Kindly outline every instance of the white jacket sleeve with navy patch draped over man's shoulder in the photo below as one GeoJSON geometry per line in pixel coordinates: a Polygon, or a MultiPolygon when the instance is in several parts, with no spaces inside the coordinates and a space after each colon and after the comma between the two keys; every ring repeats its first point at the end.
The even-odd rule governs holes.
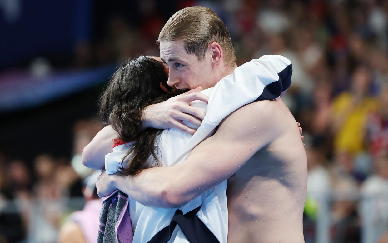
{"type": "Polygon", "coordinates": [[[278,98],[288,89],[291,75],[291,62],[279,55],[265,55],[242,64],[211,90],[204,121],[218,125],[245,104],[278,98]]]}

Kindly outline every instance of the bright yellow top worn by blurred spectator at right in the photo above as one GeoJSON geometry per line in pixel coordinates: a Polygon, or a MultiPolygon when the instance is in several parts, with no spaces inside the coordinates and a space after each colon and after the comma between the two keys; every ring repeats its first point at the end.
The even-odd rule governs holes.
{"type": "Polygon", "coordinates": [[[352,154],[364,149],[367,116],[378,109],[378,101],[375,98],[365,97],[358,104],[354,104],[354,99],[353,94],[344,92],[338,95],[332,104],[334,120],[345,115],[343,124],[334,135],[334,149],[352,154]]]}

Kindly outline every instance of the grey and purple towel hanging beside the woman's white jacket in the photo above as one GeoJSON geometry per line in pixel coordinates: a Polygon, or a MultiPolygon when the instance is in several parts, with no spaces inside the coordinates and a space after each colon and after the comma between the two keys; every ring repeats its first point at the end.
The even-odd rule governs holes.
{"type": "Polygon", "coordinates": [[[128,195],[116,190],[102,198],[97,242],[132,243],[132,221],[129,215],[128,195]]]}

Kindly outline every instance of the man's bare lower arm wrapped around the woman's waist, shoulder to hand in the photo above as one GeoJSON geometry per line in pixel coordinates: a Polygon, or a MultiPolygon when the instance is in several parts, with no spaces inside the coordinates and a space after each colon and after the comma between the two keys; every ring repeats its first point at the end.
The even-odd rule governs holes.
{"type": "MultiPolygon", "coordinates": [[[[259,149],[267,146],[279,131],[270,102],[248,104],[229,115],[215,135],[194,148],[187,159],[174,167],[155,167],[139,175],[102,175],[97,182],[100,196],[118,188],[151,207],[185,205],[204,191],[233,175],[259,149]]],[[[297,129],[295,127],[295,129],[297,129]]]]}

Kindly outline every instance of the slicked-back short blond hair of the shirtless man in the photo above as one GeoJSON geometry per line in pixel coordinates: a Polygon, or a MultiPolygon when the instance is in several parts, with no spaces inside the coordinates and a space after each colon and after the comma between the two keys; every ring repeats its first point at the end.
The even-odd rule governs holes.
{"type": "Polygon", "coordinates": [[[186,52],[195,54],[200,61],[209,45],[217,42],[225,64],[230,67],[236,64],[236,51],[228,29],[220,16],[206,7],[187,7],[176,12],[160,31],[158,42],[163,40],[182,40],[186,52]]]}

